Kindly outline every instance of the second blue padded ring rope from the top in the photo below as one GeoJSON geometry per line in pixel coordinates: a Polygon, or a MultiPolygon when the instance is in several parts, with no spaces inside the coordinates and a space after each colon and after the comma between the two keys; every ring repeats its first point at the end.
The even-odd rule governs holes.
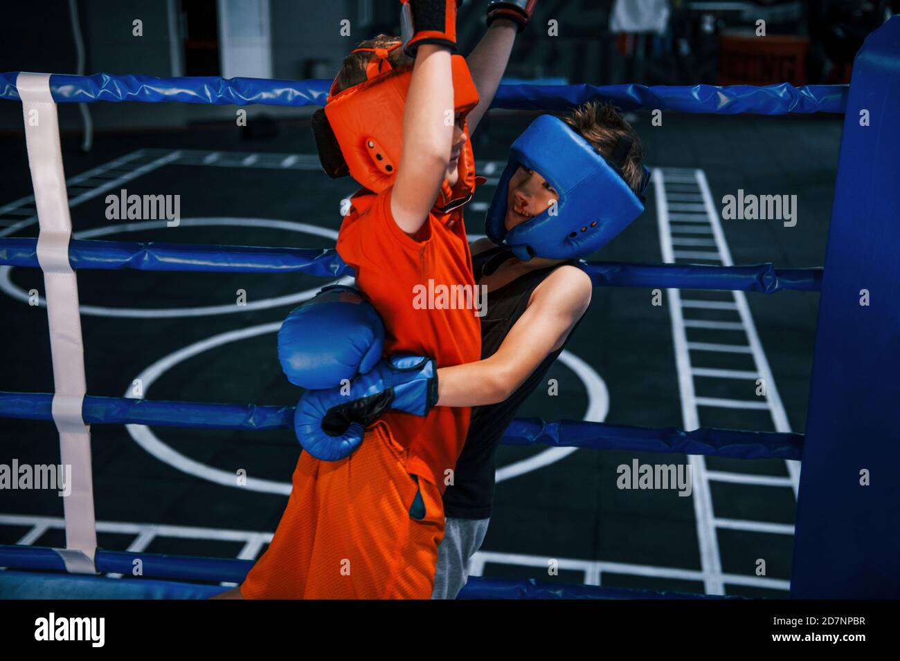
{"type": "MultiPolygon", "coordinates": [[[[0,265],[39,268],[36,238],[0,238],[0,265]]],[[[193,246],[73,240],[68,261],[74,269],[142,271],[303,272],[321,277],[352,275],[335,250],[256,246],[193,246]]],[[[617,264],[582,262],[594,286],[675,287],[742,290],[771,294],[782,290],[818,291],[822,269],[777,269],[772,264],[617,264]]]]}

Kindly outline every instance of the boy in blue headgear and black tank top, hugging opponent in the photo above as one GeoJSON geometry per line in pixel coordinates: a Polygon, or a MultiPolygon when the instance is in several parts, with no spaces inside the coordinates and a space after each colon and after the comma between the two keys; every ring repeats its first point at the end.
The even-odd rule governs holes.
{"type": "Polygon", "coordinates": [[[488,292],[482,361],[437,371],[439,406],[473,406],[444,493],[437,599],[454,599],[465,585],[490,523],[500,439],[590,304],[578,258],[640,215],[649,181],[640,138],[609,105],[541,115],[510,152],[486,219],[489,238],[472,246],[475,281],[488,292]]]}

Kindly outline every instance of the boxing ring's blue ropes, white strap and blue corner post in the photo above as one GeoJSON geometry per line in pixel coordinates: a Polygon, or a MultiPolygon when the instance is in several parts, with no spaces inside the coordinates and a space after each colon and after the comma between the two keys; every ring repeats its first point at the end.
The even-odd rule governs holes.
{"type": "MultiPolygon", "coordinates": [[[[0,392],[0,417],[52,421],[61,463],[70,464],[64,500],[66,548],[0,546],[0,596],[200,598],[239,583],[252,561],[98,549],[90,429],[147,424],[246,432],[293,428],[293,407],[94,397],[86,393],[78,307],[81,269],[352,275],[334,250],[203,246],[72,238],[58,135],[57,103],[141,102],[322,105],[330,81],[217,77],[0,74],[0,98],[23,104],[40,234],[0,238],[0,265],[44,274],[53,393],[0,392]],[[140,579],[129,575],[135,563],[140,579]]],[[[851,85],[753,87],[501,85],[493,107],[563,111],[591,99],[625,110],[698,113],[842,112],[841,154],[824,268],[773,264],[589,263],[596,287],[820,292],[806,434],[518,419],[503,442],[626,449],[738,459],[802,460],[791,596],[900,597],[900,18],[869,35],[851,85]],[[893,113],[893,114],[892,114],[893,113]],[[863,121],[865,117],[865,121],[863,121]],[[866,291],[871,303],[860,305],[866,291]],[[868,486],[860,475],[871,476],[868,486]]],[[[160,221],[164,223],[165,220],[160,221]]],[[[310,294],[311,296],[312,294],[310,294]]],[[[541,585],[473,576],[460,598],[671,598],[673,593],[592,585],[541,585]]]]}

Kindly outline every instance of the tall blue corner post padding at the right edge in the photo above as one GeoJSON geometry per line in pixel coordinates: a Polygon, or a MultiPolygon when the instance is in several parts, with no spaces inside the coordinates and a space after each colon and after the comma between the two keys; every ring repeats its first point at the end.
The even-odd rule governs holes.
{"type": "Polygon", "coordinates": [[[866,38],[851,77],[797,498],[791,596],[801,599],[900,599],[898,112],[895,16],[866,38]]]}

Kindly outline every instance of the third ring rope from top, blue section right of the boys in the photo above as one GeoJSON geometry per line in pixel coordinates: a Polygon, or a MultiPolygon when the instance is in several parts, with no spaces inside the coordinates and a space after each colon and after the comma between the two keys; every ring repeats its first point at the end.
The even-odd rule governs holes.
{"type": "Polygon", "coordinates": [[[685,432],[676,427],[652,429],[576,420],[545,423],[540,418],[517,418],[507,427],[503,443],[594,450],[678,452],[736,459],[800,459],[803,434],[714,428],[685,432]]]}

